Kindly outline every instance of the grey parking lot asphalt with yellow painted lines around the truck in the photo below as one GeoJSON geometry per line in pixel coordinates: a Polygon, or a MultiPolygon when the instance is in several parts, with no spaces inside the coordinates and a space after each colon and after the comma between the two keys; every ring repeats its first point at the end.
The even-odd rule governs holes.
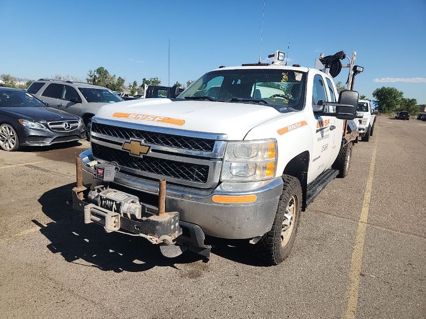
{"type": "Polygon", "coordinates": [[[66,204],[88,142],[0,152],[0,317],[424,318],[426,122],[378,117],[349,175],[302,214],[290,256],[208,262],[85,225],[66,204]]]}

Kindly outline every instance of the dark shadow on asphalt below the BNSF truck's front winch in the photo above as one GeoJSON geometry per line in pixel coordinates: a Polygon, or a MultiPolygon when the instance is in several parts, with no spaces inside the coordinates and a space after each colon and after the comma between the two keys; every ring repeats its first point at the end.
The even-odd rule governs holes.
{"type": "Polygon", "coordinates": [[[40,232],[51,242],[47,248],[59,253],[70,263],[95,267],[103,271],[141,272],[155,266],[173,267],[202,260],[192,252],[168,259],[159,247],[143,238],[120,233],[105,233],[94,223],[84,224],[83,213],[74,211],[67,201],[71,199],[74,183],[48,190],[39,198],[43,213],[53,220],[41,227],[40,232]]]}

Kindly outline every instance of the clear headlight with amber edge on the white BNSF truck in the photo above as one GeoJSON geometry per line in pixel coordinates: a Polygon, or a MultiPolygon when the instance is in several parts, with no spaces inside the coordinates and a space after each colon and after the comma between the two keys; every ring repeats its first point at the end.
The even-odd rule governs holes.
{"type": "Polygon", "coordinates": [[[253,181],[273,178],[277,155],[275,139],[228,142],[220,179],[253,181]]]}

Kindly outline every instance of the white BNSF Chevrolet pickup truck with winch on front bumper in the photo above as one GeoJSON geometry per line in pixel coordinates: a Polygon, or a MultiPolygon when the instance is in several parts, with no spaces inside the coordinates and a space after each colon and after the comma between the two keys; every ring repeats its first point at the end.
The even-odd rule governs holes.
{"type": "Polygon", "coordinates": [[[103,106],[76,159],[73,207],[85,223],[146,238],[167,257],[208,257],[209,235],[282,262],[300,212],[347,174],[358,102],[282,55],[207,72],[177,98],[103,106]]]}

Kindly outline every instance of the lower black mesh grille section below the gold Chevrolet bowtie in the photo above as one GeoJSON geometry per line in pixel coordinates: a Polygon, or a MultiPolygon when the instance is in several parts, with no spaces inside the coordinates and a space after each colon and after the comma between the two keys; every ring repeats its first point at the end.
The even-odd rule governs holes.
{"type": "MultiPolygon", "coordinates": [[[[99,123],[96,125],[99,125],[99,123]]],[[[121,127],[116,128],[121,129],[121,127]]],[[[132,156],[126,151],[96,143],[92,143],[92,154],[95,158],[100,160],[117,162],[121,167],[182,180],[206,183],[209,176],[209,166],[207,165],[178,162],[150,156],[141,158],[132,156]]]]}

